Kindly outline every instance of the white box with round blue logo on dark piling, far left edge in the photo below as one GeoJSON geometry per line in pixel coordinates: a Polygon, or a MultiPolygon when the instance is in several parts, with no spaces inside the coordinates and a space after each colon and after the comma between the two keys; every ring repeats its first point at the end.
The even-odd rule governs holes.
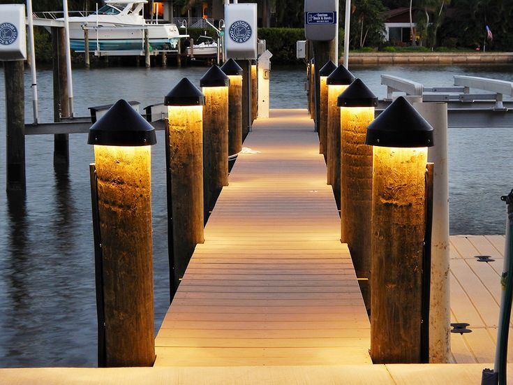
{"type": "Polygon", "coordinates": [[[25,6],[0,5],[0,61],[6,82],[7,191],[25,189],[25,6]]]}

